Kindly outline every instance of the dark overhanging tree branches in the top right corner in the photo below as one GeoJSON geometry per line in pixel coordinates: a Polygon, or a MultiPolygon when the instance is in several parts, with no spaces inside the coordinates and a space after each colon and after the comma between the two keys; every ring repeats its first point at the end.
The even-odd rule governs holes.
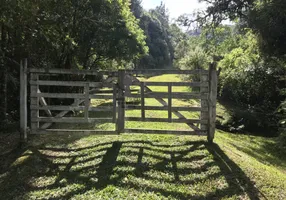
{"type": "MultiPolygon", "coordinates": [[[[266,56],[285,58],[286,5],[284,0],[201,0],[208,3],[199,12],[201,24],[218,26],[223,20],[241,20],[259,36],[259,46],[266,56]]],[[[189,20],[189,23],[193,20],[189,20]]],[[[188,23],[188,25],[189,25],[188,23]]]]}

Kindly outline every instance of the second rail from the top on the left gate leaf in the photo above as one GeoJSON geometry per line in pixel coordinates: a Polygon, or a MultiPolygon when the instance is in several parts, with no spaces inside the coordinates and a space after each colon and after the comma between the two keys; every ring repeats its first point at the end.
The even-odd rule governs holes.
{"type": "MultiPolygon", "coordinates": [[[[42,86],[69,86],[69,87],[84,87],[87,82],[83,81],[30,81],[31,85],[42,86]]],[[[112,87],[112,83],[88,82],[90,87],[112,87]]]]}

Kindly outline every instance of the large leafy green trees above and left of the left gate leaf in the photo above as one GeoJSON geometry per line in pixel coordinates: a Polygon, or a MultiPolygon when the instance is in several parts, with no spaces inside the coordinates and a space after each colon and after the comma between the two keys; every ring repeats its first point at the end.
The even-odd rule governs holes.
{"type": "Polygon", "coordinates": [[[129,6],[128,0],[2,1],[0,120],[17,109],[18,62],[25,57],[29,67],[100,69],[145,55],[145,35],[129,6]]]}

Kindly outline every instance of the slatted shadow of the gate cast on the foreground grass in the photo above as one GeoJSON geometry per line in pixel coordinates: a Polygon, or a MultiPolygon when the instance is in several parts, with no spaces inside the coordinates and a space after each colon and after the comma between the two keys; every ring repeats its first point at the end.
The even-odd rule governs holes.
{"type": "MultiPolygon", "coordinates": [[[[218,145],[203,141],[169,145],[116,140],[73,149],[41,146],[29,148],[23,156],[28,157],[0,176],[0,198],[88,198],[109,186],[134,196],[151,193],[175,199],[260,196],[218,145]]],[[[127,198],[112,195],[114,191],[107,196],[127,198]]]]}

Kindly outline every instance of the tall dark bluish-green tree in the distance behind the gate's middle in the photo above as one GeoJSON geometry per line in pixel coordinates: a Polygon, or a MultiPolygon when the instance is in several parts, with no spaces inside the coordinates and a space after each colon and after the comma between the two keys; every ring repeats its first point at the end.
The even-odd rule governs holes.
{"type": "Polygon", "coordinates": [[[132,5],[133,13],[140,20],[140,27],[144,30],[149,47],[149,54],[136,62],[136,68],[171,67],[174,60],[174,45],[181,31],[175,24],[170,25],[165,5],[161,4],[149,11],[144,11],[138,6],[138,0],[133,0],[132,5]]]}

